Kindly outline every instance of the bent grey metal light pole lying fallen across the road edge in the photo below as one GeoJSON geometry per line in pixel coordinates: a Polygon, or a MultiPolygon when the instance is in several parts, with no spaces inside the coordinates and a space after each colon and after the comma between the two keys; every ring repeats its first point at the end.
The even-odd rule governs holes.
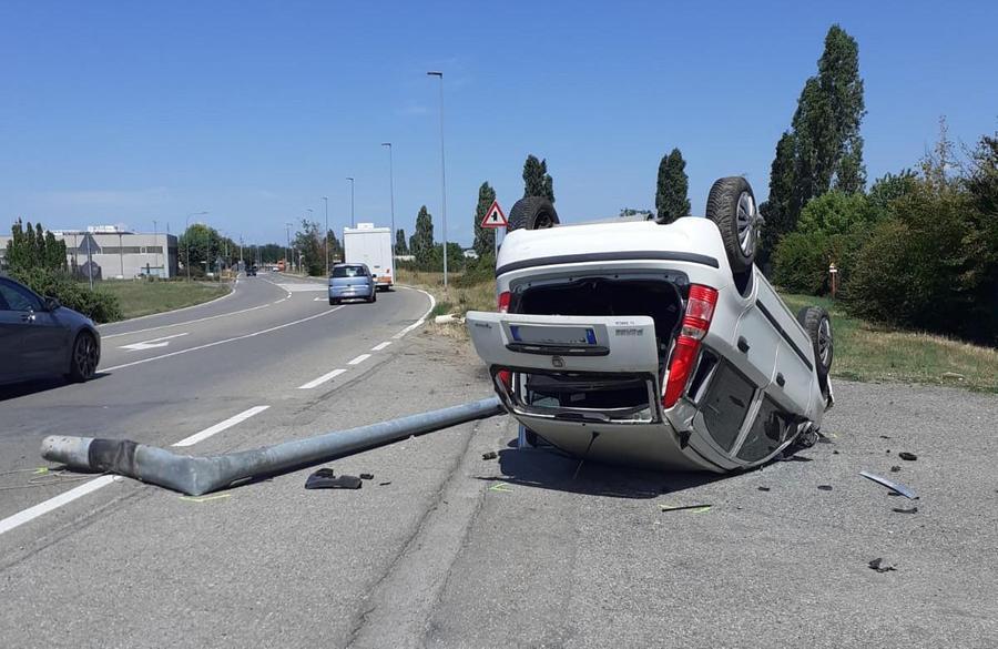
{"type": "Polygon", "coordinates": [[[498,397],[491,397],[317,437],[210,457],[174,455],[166,449],[128,439],[51,435],[42,440],[42,457],[71,468],[114,473],[189,496],[201,496],[241,480],[284,473],[505,412],[498,397]]]}

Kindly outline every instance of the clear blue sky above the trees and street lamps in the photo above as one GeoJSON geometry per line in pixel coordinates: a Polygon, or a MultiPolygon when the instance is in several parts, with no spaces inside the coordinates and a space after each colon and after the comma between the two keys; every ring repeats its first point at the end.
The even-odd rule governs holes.
{"type": "Polygon", "coordinates": [[[185,214],[284,241],[312,207],[330,227],[396,225],[426,204],[440,239],[445,73],[448,231],[470,243],[479,184],[508,210],[547,158],[563,221],[654,203],[679,146],[694,213],[745,174],[762,200],[781,132],[828,27],[859,42],[869,178],[914,165],[946,115],[967,144],[998,128],[995,2],[0,3],[0,222],[185,214]]]}

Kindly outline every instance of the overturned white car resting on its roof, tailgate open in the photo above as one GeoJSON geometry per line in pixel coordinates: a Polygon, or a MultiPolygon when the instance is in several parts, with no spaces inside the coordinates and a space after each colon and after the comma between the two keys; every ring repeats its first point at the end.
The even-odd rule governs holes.
{"type": "Polygon", "coordinates": [[[833,400],[827,313],[794,317],[753,264],[761,219],[744,179],[714,183],[706,212],[562,226],[544,199],[513,206],[499,312],[467,323],[528,438],[727,471],[818,429],[833,400]]]}

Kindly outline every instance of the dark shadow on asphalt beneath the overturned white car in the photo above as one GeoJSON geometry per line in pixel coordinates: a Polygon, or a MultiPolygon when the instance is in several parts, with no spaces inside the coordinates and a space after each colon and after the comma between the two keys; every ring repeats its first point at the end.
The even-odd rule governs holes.
{"type": "Polygon", "coordinates": [[[547,447],[500,450],[499,468],[502,477],[478,479],[610,498],[656,498],[727,477],[709,473],[652,471],[592,459],[579,468],[578,458],[547,447]]]}

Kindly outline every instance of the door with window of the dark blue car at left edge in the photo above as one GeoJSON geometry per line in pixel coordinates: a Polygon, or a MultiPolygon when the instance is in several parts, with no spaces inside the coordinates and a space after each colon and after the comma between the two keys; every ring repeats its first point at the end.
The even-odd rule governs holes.
{"type": "Polygon", "coordinates": [[[0,295],[8,307],[7,326],[19,329],[14,378],[61,373],[69,357],[65,327],[54,314],[44,311],[38,295],[20,284],[0,280],[0,295]]]}

